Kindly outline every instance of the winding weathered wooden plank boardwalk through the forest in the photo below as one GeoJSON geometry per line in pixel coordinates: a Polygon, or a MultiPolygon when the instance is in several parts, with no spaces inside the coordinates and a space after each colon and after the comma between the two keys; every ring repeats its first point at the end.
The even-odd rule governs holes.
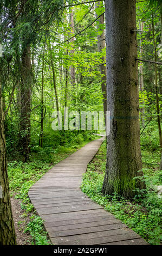
{"type": "Polygon", "coordinates": [[[147,245],[80,190],[82,174],[103,137],[57,163],[29,190],[54,245],[147,245]]]}

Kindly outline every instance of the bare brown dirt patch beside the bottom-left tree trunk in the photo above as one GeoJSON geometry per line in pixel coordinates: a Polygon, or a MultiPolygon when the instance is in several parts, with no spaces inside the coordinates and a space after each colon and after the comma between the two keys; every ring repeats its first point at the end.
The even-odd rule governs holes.
{"type": "Polygon", "coordinates": [[[21,200],[11,197],[11,205],[17,245],[31,245],[31,236],[28,233],[23,233],[24,227],[30,221],[30,218],[29,216],[22,216],[24,214],[24,210],[21,209],[21,200]]]}

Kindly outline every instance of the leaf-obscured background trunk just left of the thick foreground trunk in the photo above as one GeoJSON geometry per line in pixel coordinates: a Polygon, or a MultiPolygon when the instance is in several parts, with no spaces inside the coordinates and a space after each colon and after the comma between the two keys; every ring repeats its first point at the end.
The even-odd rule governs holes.
{"type": "MultiPolygon", "coordinates": [[[[103,6],[103,3],[96,4],[96,7],[100,7],[100,5],[103,6]]],[[[98,15],[96,14],[96,17],[98,15]]],[[[104,24],[104,14],[100,17],[98,20],[99,25],[97,25],[98,28],[98,51],[101,52],[105,47],[105,31],[103,28],[100,27],[100,25],[104,24]]],[[[105,63],[104,57],[102,57],[102,62],[105,63]]],[[[106,115],[107,111],[107,92],[106,92],[106,66],[100,65],[100,73],[101,73],[101,89],[102,89],[102,95],[103,95],[103,111],[106,115]]]]}

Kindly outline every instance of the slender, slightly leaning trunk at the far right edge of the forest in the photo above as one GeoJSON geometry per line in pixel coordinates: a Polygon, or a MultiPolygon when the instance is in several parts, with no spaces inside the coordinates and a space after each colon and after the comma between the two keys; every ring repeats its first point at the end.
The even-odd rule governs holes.
{"type": "MultiPolygon", "coordinates": [[[[154,61],[157,62],[157,46],[156,46],[156,42],[155,42],[153,14],[152,14],[152,35],[153,35],[153,45],[154,45],[154,61]]],[[[157,71],[157,64],[154,64],[154,71],[155,71],[155,95],[156,95],[157,121],[158,121],[158,130],[159,130],[159,142],[160,142],[160,148],[162,149],[160,109],[159,109],[159,96],[158,96],[158,71],[157,71]]]]}

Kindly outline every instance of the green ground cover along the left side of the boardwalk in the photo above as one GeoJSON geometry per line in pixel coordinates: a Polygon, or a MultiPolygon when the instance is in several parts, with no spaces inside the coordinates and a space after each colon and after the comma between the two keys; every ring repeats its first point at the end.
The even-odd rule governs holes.
{"type": "MultiPolygon", "coordinates": [[[[57,148],[36,147],[32,149],[30,161],[27,163],[21,161],[10,161],[8,163],[8,176],[10,195],[21,199],[21,208],[24,210],[24,218],[30,217],[30,222],[24,229],[24,232],[29,232],[32,241],[31,245],[50,245],[47,232],[43,227],[43,220],[37,216],[33,204],[30,203],[28,197],[29,188],[39,180],[54,164],[62,161],[77,149],[83,147],[90,140],[99,138],[91,136],[86,141],[77,141],[77,145],[64,145],[57,148]]],[[[76,141],[75,141],[76,143],[76,141]]]]}

